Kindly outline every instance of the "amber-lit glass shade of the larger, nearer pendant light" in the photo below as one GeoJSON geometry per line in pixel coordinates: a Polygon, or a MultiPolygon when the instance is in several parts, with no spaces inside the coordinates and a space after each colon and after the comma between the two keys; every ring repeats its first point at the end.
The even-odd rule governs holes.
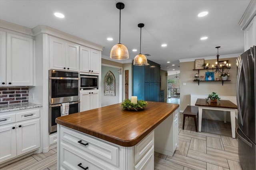
{"type": "Polygon", "coordinates": [[[128,49],[125,47],[125,45],[118,43],[112,47],[110,51],[110,58],[116,60],[129,59],[128,49]]]}

